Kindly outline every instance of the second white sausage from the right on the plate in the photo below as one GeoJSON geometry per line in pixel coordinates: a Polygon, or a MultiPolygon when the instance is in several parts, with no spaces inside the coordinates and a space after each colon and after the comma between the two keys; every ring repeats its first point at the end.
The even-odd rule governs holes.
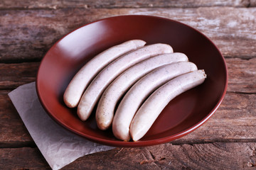
{"type": "Polygon", "coordinates": [[[195,70],[197,70],[196,64],[192,62],[176,62],[159,67],[139,79],[125,94],[117,108],[112,123],[114,136],[120,140],[128,141],[132,118],[146,97],[170,79],[195,70]]]}

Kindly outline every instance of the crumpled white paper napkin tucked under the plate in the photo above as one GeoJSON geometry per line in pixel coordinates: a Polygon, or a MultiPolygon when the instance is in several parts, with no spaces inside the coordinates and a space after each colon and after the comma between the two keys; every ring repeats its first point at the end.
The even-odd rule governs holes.
{"type": "Polygon", "coordinates": [[[35,82],[19,86],[8,95],[52,169],[60,169],[86,154],[114,148],[85,140],[55,123],[38,101],[35,82]]]}

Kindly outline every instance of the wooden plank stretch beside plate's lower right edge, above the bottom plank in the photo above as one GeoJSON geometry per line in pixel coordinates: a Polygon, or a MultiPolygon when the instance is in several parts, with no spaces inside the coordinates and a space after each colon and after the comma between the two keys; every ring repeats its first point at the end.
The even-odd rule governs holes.
{"type": "Polygon", "coordinates": [[[256,142],[255,103],[256,94],[228,93],[205,124],[173,143],[256,142]]]}

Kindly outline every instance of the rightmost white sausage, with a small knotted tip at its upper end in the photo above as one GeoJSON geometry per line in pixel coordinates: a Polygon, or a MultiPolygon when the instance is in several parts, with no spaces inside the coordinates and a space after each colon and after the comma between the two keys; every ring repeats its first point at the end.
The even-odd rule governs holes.
{"type": "Polygon", "coordinates": [[[161,111],[173,98],[182,94],[184,91],[188,91],[202,84],[205,79],[205,72],[198,70],[176,77],[154,91],[139,108],[139,111],[137,111],[132,120],[130,127],[132,139],[134,141],[141,139],[151,125],[153,125],[161,111]]]}

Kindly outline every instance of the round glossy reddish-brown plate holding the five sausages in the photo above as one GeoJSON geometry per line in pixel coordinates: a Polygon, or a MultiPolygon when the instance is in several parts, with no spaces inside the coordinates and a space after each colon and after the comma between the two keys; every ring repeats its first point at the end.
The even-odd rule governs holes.
{"type": "Polygon", "coordinates": [[[213,42],[190,26],[156,16],[116,16],[74,30],[46,53],[36,79],[43,108],[57,123],[88,140],[117,147],[156,145],[192,132],[220,106],[227,85],[225,60],[213,42]],[[82,122],[76,109],[63,103],[63,93],[88,60],[113,45],[132,39],[141,39],[147,44],[169,44],[174,52],[185,53],[198,69],[205,69],[208,77],[200,86],[174,98],[141,140],[123,142],[114,138],[111,129],[99,130],[94,113],[82,122]]]}

